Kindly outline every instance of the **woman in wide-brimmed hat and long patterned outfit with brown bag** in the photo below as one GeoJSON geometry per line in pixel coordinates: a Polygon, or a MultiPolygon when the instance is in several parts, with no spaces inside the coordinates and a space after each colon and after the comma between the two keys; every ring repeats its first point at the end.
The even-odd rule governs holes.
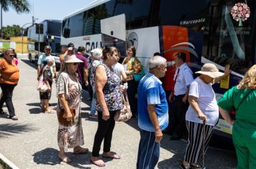
{"type": "Polygon", "coordinates": [[[57,81],[57,115],[58,115],[58,157],[65,163],[70,158],[65,155],[64,149],[73,148],[75,154],[88,153],[88,148],[81,148],[84,144],[81,123],[81,84],[78,82],[76,70],[82,62],[76,55],[65,57],[63,69],[58,74],[57,81]]]}

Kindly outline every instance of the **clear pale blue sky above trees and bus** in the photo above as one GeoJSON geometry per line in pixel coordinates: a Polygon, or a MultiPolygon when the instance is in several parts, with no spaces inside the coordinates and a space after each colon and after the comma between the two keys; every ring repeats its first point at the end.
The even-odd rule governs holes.
{"type": "Polygon", "coordinates": [[[87,4],[95,0],[28,0],[30,12],[28,14],[17,14],[12,8],[9,11],[3,11],[3,26],[18,24],[24,27],[29,26],[27,23],[32,22],[34,15],[37,20],[35,23],[40,23],[45,19],[62,20],[65,16],[78,9],[83,8],[87,4]]]}

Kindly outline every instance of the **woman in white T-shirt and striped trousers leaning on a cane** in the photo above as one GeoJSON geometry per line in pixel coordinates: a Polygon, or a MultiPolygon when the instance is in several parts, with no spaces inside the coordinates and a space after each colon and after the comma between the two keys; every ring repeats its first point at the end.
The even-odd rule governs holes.
{"type": "MultiPolygon", "coordinates": [[[[186,125],[188,128],[188,145],[186,147],[185,160],[180,168],[201,168],[198,158],[202,155],[202,145],[205,150],[209,146],[209,140],[214,132],[214,125],[219,119],[219,107],[216,102],[215,93],[211,85],[227,76],[229,65],[225,67],[225,73],[211,63],[206,63],[201,68],[200,74],[190,85],[186,112],[186,125]],[[205,122],[205,126],[204,126],[205,122]],[[203,139],[203,128],[205,127],[205,139],[203,139]],[[203,143],[203,141],[205,141],[203,143]]],[[[205,153],[205,152],[204,152],[205,153]]]]}

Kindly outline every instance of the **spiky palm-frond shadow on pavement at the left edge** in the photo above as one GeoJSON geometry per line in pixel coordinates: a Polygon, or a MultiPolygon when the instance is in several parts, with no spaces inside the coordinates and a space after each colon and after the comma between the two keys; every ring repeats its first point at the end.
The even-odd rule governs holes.
{"type": "Polygon", "coordinates": [[[0,125],[0,137],[7,137],[11,136],[14,134],[19,134],[22,132],[29,132],[36,130],[35,128],[31,127],[32,124],[26,124],[26,125],[21,125],[21,124],[1,124],[0,125]]]}

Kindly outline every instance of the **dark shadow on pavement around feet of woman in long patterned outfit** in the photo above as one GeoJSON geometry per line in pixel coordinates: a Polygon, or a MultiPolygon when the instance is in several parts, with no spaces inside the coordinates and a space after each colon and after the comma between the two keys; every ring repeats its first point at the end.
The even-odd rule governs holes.
{"type": "MultiPolygon", "coordinates": [[[[67,165],[71,165],[74,168],[87,168],[82,165],[91,165],[91,153],[74,155],[73,153],[68,152],[66,155],[72,160],[70,163],[67,163],[67,165]]],[[[37,164],[59,165],[60,163],[63,163],[60,162],[60,159],[58,158],[58,150],[54,148],[45,148],[44,150],[35,153],[33,156],[33,160],[37,164]]]]}

